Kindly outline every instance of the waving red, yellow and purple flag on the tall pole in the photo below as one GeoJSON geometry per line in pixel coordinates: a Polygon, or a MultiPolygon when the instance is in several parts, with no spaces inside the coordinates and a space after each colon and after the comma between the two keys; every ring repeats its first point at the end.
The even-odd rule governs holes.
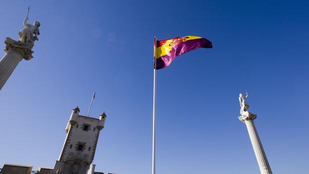
{"type": "Polygon", "coordinates": [[[197,48],[212,48],[212,43],[198,36],[175,37],[168,40],[156,41],[156,67],[155,69],[162,69],[174,60],[175,57],[192,51],[197,48]]]}

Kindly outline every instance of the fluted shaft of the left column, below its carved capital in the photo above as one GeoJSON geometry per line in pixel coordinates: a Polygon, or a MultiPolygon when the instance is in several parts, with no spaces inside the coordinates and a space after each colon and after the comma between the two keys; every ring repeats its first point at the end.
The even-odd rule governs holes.
{"type": "Polygon", "coordinates": [[[21,60],[21,55],[12,51],[5,52],[0,60],[0,90],[21,60]]]}

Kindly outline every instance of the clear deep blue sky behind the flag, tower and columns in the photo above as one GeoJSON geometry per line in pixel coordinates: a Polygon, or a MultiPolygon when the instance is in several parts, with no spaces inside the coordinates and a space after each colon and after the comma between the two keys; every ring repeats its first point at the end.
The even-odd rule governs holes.
{"type": "Polygon", "coordinates": [[[0,166],[53,167],[96,91],[96,171],[151,174],[153,37],[196,35],[214,47],[157,72],[157,174],[259,174],[245,89],[274,174],[308,174],[308,1],[1,0],[1,49],[28,4],[41,35],[0,91],[0,166]]]}

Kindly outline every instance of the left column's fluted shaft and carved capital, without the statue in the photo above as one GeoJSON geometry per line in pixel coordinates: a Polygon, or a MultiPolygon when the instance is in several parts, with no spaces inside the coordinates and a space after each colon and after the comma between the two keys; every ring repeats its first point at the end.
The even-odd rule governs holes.
{"type": "Polygon", "coordinates": [[[4,43],[6,44],[5,54],[0,60],[0,90],[22,58],[30,60],[33,53],[31,50],[33,44],[21,43],[9,37],[5,38],[4,43]]]}

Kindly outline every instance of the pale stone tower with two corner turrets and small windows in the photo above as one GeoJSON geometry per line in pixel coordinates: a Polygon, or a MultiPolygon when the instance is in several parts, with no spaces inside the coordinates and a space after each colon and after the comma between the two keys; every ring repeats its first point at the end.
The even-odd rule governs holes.
{"type": "Polygon", "coordinates": [[[104,128],[106,114],[102,113],[97,119],[81,116],[79,112],[78,107],[72,111],[65,129],[63,148],[53,173],[94,174],[95,165],[92,162],[100,131],[104,128]]]}

